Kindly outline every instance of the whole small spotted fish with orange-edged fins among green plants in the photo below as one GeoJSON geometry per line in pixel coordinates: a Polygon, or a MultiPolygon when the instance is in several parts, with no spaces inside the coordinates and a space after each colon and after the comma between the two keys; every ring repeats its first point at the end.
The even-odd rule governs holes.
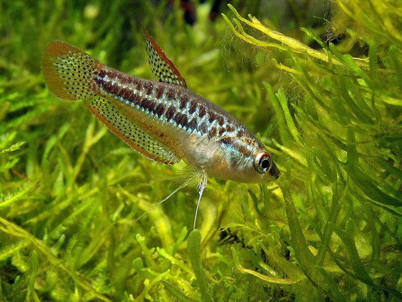
{"type": "Polygon", "coordinates": [[[157,205],[196,179],[195,228],[207,176],[263,183],[278,178],[280,172],[246,127],[187,88],[178,69],[146,30],[145,39],[157,81],[120,72],[60,41],[47,46],[43,75],[55,96],[85,99],[96,118],[145,157],[166,165],[183,160],[192,167],[183,183],[157,205]]]}

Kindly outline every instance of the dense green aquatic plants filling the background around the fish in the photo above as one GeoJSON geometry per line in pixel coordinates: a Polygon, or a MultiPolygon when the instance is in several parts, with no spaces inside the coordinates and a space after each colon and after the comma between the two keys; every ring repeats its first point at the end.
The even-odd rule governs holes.
{"type": "Polygon", "coordinates": [[[0,3],[0,301],[402,300],[402,4],[230,3],[0,3]],[[136,221],[182,163],[44,85],[53,39],[152,79],[143,27],[281,171],[210,178],[194,231],[194,186],[136,221]]]}

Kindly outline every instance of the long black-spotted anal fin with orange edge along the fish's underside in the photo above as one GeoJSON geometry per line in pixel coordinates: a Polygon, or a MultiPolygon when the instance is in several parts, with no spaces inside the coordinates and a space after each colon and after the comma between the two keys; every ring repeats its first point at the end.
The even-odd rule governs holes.
{"type": "Polygon", "coordinates": [[[110,131],[145,157],[167,165],[173,165],[180,160],[173,152],[162,146],[139,125],[134,123],[111,100],[97,96],[91,100],[88,108],[110,131]]]}

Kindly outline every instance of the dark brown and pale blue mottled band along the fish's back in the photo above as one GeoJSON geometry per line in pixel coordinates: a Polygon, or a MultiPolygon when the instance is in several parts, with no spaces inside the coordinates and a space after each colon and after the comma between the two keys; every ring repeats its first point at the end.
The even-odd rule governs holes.
{"type": "Polygon", "coordinates": [[[159,119],[222,144],[232,144],[243,154],[258,144],[240,122],[186,88],[125,75],[115,69],[100,70],[95,81],[107,93],[159,119]]]}

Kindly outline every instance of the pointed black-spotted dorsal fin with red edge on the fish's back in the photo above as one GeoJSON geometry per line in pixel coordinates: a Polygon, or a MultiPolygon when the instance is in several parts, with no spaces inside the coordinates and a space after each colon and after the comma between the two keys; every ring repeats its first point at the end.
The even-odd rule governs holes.
{"type": "Polygon", "coordinates": [[[148,63],[155,77],[166,83],[187,87],[184,78],[173,62],[165,55],[155,39],[144,29],[146,48],[148,53],[148,63]]]}

